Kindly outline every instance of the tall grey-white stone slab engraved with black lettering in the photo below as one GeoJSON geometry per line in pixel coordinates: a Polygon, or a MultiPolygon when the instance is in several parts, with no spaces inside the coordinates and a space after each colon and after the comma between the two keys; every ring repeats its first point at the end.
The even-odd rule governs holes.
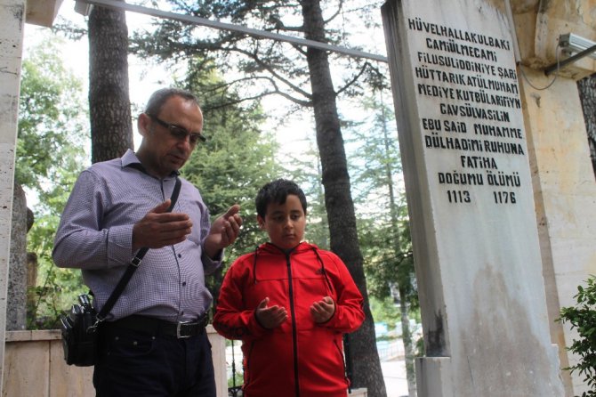
{"type": "Polygon", "coordinates": [[[426,357],[420,397],[564,394],[509,18],[390,0],[383,24],[426,357]]]}

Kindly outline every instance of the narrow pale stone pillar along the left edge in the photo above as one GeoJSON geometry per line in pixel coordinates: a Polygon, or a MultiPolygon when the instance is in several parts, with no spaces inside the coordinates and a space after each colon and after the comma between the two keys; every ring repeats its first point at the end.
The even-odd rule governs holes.
{"type": "MultiPolygon", "coordinates": [[[[19,111],[24,0],[0,0],[0,374],[4,373],[6,289],[12,223],[14,156],[19,111]]],[[[2,387],[0,379],[0,388],[2,387]]],[[[2,390],[0,390],[2,394],[2,390]]]]}

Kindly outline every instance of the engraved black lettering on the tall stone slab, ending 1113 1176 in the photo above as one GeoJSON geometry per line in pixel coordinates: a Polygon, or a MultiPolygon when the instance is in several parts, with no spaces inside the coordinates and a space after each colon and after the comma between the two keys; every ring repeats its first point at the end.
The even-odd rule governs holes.
{"type": "Polygon", "coordinates": [[[445,159],[433,163],[439,167],[433,181],[449,204],[479,197],[495,206],[517,204],[528,182],[509,161],[526,156],[517,72],[502,61],[511,57],[510,41],[422,17],[407,22],[416,43],[415,93],[430,104],[419,106],[423,145],[445,159]],[[488,196],[479,194],[486,190],[488,196]]]}

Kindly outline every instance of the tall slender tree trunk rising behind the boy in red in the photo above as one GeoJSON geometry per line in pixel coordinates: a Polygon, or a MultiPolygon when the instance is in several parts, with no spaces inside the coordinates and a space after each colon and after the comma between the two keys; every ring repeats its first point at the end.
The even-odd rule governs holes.
{"type": "MultiPolygon", "coordinates": [[[[325,25],[318,0],[302,2],[305,38],[326,42],[325,25]]],[[[317,144],[321,158],[325,205],[329,223],[330,247],[343,262],[364,296],[366,320],[350,336],[353,363],[352,386],[366,387],[369,397],[387,395],[383,372],[376,350],[375,325],[368,304],[362,254],[358,247],[356,215],[350,192],[350,175],[343,148],[342,131],[335,102],[334,86],[327,54],[313,48],[307,50],[310,86],[317,128],[317,144]]]]}

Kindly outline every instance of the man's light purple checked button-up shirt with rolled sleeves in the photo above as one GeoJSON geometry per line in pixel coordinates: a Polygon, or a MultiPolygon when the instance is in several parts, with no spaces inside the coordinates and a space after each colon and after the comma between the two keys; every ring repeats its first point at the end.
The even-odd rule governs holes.
{"type": "MultiPolygon", "coordinates": [[[[128,150],[122,158],[96,163],[82,172],[54,240],[54,263],[82,270],[98,311],[133,257],[133,224],[169,199],[175,184],[174,174],[159,180],[133,164],[141,163],[128,150]]],[[[213,272],[221,262],[203,252],[211,226],[209,212],[197,188],[183,179],[181,182],[173,212],[189,215],[192,232],[180,244],[149,249],[109,320],[131,314],[168,321],[194,320],[211,305],[205,273],[213,272]]]]}

